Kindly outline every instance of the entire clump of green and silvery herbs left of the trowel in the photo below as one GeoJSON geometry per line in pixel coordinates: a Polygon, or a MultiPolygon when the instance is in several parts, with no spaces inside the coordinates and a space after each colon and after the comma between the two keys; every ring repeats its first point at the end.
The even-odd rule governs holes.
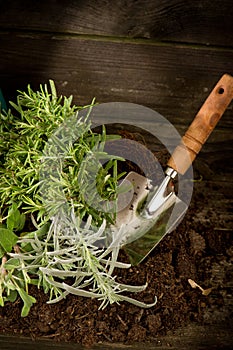
{"type": "Polygon", "coordinates": [[[36,302],[32,284],[49,293],[49,303],[71,293],[101,300],[100,308],[121,300],[154,305],[123,294],[146,285],[122,285],[114,275],[130,267],[118,261],[123,231],[111,236],[109,229],[123,174],[122,159],[104,146],[118,136],[104,127],[94,133],[93,102],[72,105],[72,97],[57,96],[53,81],[50,91],[28,86],[11,106],[14,114],[0,116],[0,305],[19,295],[28,315],[36,302]]]}

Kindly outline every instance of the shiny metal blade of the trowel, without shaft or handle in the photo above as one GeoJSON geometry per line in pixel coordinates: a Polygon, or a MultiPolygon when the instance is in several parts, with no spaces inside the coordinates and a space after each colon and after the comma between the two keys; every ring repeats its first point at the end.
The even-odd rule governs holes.
{"type": "Polygon", "coordinates": [[[130,191],[120,199],[120,205],[124,207],[124,202],[126,205],[117,213],[115,228],[122,230],[122,246],[131,264],[137,265],[178,225],[188,207],[173,192],[150,219],[145,218],[140,213],[150,193],[150,181],[130,172],[122,186],[128,184],[131,184],[130,191]]]}

